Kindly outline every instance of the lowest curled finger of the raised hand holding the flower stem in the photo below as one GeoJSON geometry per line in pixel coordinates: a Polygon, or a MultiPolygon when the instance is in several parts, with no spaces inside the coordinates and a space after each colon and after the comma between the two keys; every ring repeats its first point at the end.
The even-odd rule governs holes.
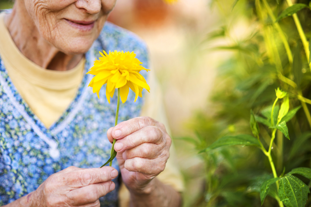
{"type": "Polygon", "coordinates": [[[161,156],[156,159],[132,158],[124,162],[124,167],[131,172],[140,172],[145,175],[158,175],[165,168],[168,157],[161,156]]]}

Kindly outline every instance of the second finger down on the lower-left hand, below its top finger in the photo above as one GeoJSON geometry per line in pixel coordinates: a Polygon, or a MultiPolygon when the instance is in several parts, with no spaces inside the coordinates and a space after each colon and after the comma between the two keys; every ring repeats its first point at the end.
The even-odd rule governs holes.
{"type": "Polygon", "coordinates": [[[68,198],[73,206],[87,205],[95,203],[100,197],[113,191],[114,188],[113,181],[95,183],[70,191],[68,198]]]}

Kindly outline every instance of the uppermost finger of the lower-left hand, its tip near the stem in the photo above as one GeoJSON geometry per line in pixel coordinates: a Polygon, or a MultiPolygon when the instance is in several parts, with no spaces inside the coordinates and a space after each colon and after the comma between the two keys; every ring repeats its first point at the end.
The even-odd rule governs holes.
{"type": "Polygon", "coordinates": [[[83,187],[95,183],[111,181],[118,176],[118,171],[113,167],[91,168],[66,172],[67,185],[71,187],[83,187]]]}

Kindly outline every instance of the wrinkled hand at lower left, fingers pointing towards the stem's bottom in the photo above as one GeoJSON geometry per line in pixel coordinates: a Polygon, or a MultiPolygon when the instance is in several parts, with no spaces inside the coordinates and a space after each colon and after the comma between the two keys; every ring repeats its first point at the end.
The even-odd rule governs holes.
{"type": "Polygon", "coordinates": [[[113,167],[67,167],[48,177],[36,191],[7,206],[100,206],[99,198],[114,190],[118,176],[113,167]]]}

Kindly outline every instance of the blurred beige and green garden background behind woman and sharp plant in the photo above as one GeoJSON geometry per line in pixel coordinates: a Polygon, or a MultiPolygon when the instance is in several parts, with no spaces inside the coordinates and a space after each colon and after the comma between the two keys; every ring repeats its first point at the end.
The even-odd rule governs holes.
{"type": "MultiPolygon", "coordinates": [[[[279,25],[301,67],[293,66],[263,1],[180,0],[166,5],[161,0],[118,0],[109,16],[150,48],[185,177],[185,207],[261,206],[259,188],[272,172],[259,149],[237,146],[198,152],[224,135],[251,134],[250,109],[258,114],[271,105],[277,87],[290,94],[290,108],[303,103],[299,89],[301,96],[311,99],[310,68],[295,22],[287,17],[279,25]]],[[[293,2],[309,5],[309,0],[293,2]]],[[[274,16],[288,7],[285,0],[267,3],[274,16]]],[[[12,1],[0,0],[0,9],[10,7],[12,1]]],[[[309,40],[311,11],[304,8],[297,14],[309,40]]],[[[277,132],[272,156],[278,175],[283,167],[285,172],[310,167],[306,107],[288,123],[290,140],[281,141],[277,132]]],[[[263,125],[260,129],[267,147],[269,130],[263,125]]],[[[263,206],[278,205],[267,196],[263,206]]],[[[311,199],[306,206],[311,206],[311,199]]]]}

